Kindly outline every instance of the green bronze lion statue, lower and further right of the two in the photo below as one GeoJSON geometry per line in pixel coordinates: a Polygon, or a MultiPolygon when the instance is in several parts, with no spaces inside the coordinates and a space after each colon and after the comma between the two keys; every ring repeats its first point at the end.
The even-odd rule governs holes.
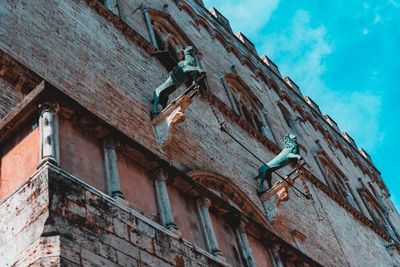
{"type": "Polygon", "coordinates": [[[267,179],[268,189],[272,187],[272,173],[289,163],[297,162],[301,159],[299,154],[299,146],[297,144],[297,139],[294,134],[287,133],[283,139],[285,147],[282,151],[273,158],[267,164],[263,164],[258,169],[258,176],[256,179],[260,179],[258,184],[257,194],[262,195],[265,191],[263,190],[264,181],[267,179]]]}

